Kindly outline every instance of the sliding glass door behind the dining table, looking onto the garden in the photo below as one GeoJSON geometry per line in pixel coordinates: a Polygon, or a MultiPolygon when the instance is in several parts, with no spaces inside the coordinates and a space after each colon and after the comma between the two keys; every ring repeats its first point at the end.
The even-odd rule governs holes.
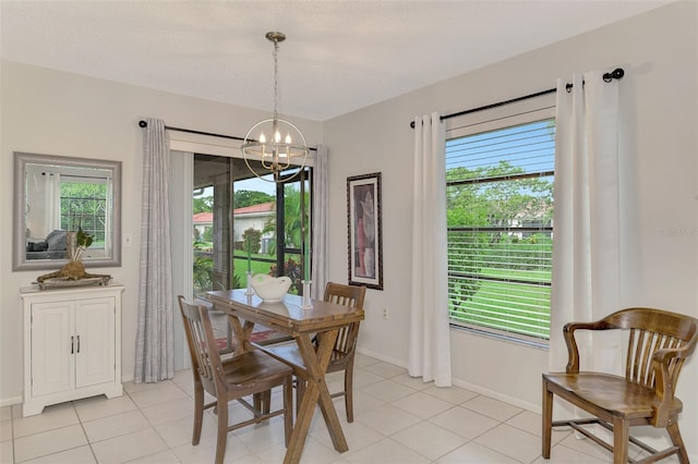
{"type": "MultiPolygon", "coordinates": [[[[301,294],[306,256],[311,173],[288,170],[280,182],[256,178],[239,158],[172,151],[170,222],[174,295],[207,304],[210,290],[246,286],[248,271],[288,276],[301,294]]],[[[188,368],[189,351],[174,301],[174,368],[188,368]]],[[[226,317],[212,312],[221,347],[226,317]]]]}

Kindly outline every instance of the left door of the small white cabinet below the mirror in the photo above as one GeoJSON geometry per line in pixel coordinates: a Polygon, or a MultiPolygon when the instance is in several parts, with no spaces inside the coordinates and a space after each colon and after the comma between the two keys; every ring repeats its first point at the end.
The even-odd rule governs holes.
{"type": "Polygon", "coordinates": [[[33,396],[74,388],[73,326],[72,302],[32,305],[33,396]]]}

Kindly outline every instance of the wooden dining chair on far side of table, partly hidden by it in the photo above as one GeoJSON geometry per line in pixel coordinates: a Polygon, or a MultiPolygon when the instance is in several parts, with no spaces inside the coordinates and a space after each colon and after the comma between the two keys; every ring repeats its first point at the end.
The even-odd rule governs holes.
{"type": "MultiPolygon", "coordinates": [[[[327,282],[323,300],[342,306],[363,309],[365,294],[365,286],[327,282]]],[[[344,389],[330,393],[330,395],[332,398],[345,396],[347,422],[349,423],[353,422],[353,361],[358,337],[358,321],[339,329],[337,341],[335,342],[329,364],[327,365],[327,373],[345,371],[344,389]]],[[[314,340],[314,343],[317,344],[317,340],[314,340]]],[[[298,346],[296,344],[273,344],[264,346],[263,350],[293,367],[293,374],[296,375],[296,407],[298,410],[308,379],[308,371],[298,346]]]]}

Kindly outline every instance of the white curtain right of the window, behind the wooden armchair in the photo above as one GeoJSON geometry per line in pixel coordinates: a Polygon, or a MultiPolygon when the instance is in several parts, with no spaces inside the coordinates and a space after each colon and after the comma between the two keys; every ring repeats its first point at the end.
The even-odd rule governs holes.
{"type": "MultiPolygon", "coordinates": [[[[563,326],[621,309],[618,81],[588,72],[557,82],[550,368],[564,370],[563,326]]],[[[617,371],[616,334],[582,335],[583,369],[617,371]],[[587,338],[585,338],[587,337],[587,338]],[[592,350],[593,347],[593,350],[592,350]]]]}

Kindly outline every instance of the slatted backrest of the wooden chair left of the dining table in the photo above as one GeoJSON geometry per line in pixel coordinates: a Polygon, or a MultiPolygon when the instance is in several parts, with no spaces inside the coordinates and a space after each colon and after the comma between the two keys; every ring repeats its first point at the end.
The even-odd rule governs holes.
{"type": "Polygon", "coordinates": [[[204,390],[216,395],[217,382],[220,381],[216,374],[221,374],[222,367],[208,309],[186,303],[182,295],[178,298],[192,358],[192,370],[198,374],[204,390]]]}

